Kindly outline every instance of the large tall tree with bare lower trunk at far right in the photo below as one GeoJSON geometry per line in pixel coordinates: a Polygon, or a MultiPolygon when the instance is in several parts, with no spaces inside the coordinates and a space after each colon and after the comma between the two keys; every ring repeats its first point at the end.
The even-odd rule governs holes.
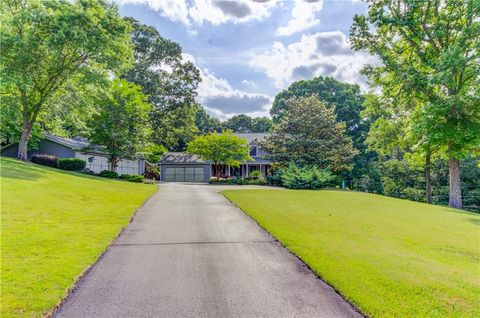
{"type": "Polygon", "coordinates": [[[351,28],[352,47],[381,62],[365,69],[369,78],[382,87],[391,77],[423,101],[411,127],[446,148],[455,208],[462,207],[460,159],[480,145],[479,17],[478,0],[375,0],[351,28]]]}

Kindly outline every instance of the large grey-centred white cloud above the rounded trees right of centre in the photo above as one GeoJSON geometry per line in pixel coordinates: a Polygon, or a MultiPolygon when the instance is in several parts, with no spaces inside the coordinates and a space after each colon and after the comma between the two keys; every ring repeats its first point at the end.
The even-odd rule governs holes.
{"type": "Polygon", "coordinates": [[[298,42],[287,46],[275,42],[270,50],[254,56],[250,65],[264,71],[277,88],[319,75],[366,88],[360,70],[373,61],[366,53],[352,51],[345,34],[333,31],[303,35],[298,42]]]}

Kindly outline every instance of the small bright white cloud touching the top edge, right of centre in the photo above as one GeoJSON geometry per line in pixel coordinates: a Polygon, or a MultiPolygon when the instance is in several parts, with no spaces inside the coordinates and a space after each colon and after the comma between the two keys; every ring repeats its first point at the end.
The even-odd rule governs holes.
{"type": "Polygon", "coordinates": [[[292,17],[286,26],[277,29],[278,35],[292,35],[294,33],[310,29],[320,23],[316,18],[317,12],[321,11],[323,0],[305,1],[296,0],[292,9],[292,17]]]}

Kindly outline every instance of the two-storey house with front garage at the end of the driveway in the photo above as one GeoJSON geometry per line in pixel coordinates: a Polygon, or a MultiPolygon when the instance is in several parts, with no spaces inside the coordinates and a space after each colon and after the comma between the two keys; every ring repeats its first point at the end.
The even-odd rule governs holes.
{"type": "MultiPolygon", "coordinates": [[[[244,138],[250,144],[252,161],[242,162],[240,167],[222,166],[222,175],[226,177],[248,177],[253,171],[259,170],[267,176],[270,161],[266,159],[267,153],[261,149],[262,141],[267,133],[234,134],[244,138]]],[[[167,182],[209,182],[215,175],[213,162],[202,160],[196,155],[185,152],[166,153],[159,162],[160,180],[167,182]]]]}

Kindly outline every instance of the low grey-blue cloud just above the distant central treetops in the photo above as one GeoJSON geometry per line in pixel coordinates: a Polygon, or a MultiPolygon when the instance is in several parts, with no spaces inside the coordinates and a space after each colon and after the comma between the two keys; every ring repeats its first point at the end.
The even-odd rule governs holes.
{"type": "MultiPolygon", "coordinates": [[[[195,63],[193,55],[184,53],[186,61],[195,63]]],[[[248,93],[233,88],[224,78],[218,78],[206,68],[200,69],[202,81],[198,86],[198,102],[209,113],[221,118],[229,118],[236,114],[249,114],[252,116],[265,116],[268,114],[273,100],[270,96],[260,93],[248,93]]]]}

